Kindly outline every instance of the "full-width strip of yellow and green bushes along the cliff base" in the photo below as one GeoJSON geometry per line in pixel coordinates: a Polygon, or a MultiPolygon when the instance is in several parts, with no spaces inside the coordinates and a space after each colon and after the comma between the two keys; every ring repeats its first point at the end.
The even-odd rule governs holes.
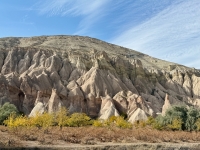
{"type": "Polygon", "coordinates": [[[168,109],[164,116],[156,118],[148,117],[147,120],[138,120],[133,124],[129,123],[123,116],[111,116],[107,120],[93,120],[84,113],[69,114],[66,108],[61,108],[55,113],[36,113],[34,117],[19,115],[13,104],[5,103],[0,107],[0,123],[9,128],[37,127],[48,129],[52,126],[62,127],[118,127],[131,129],[150,127],[157,130],[183,130],[200,131],[200,109],[185,106],[173,106],[168,109]]]}

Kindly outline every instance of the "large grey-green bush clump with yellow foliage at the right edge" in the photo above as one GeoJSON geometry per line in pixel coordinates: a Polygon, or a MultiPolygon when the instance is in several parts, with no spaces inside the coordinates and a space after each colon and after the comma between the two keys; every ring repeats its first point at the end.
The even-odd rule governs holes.
{"type": "Polygon", "coordinates": [[[158,130],[200,130],[200,110],[194,107],[173,106],[165,116],[149,117],[147,125],[158,130]]]}

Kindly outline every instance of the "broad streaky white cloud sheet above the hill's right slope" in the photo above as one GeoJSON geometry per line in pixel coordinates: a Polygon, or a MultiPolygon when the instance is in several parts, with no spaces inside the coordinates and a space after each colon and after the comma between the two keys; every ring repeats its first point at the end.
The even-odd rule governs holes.
{"type": "Polygon", "coordinates": [[[196,61],[197,54],[200,55],[199,8],[199,0],[172,3],[142,24],[125,30],[111,42],[199,68],[198,63],[189,62],[196,61]]]}

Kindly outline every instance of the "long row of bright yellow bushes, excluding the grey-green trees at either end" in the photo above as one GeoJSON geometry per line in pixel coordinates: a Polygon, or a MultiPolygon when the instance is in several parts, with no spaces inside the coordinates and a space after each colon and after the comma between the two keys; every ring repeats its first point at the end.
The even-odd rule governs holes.
{"type": "Polygon", "coordinates": [[[19,127],[38,127],[48,130],[49,127],[59,126],[62,127],[82,127],[93,125],[95,127],[119,127],[119,128],[132,128],[132,124],[127,122],[122,116],[112,116],[107,120],[93,120],[84,113],[69,114],[64,107],[55,113],[36,113],[34,117],[27,117],[18,115],[15,112],[10,112],[7,119],[3,121],[4,125],[9,128],[19,127]]]}

